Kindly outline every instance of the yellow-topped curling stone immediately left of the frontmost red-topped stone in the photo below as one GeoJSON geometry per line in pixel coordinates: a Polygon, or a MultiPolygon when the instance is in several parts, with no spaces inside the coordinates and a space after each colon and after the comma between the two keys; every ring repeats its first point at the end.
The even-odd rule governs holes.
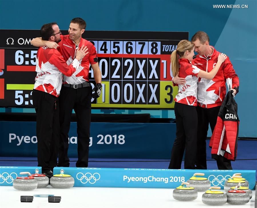
{"type": "Polygon", "coordinates": [[[202,195],[202,202],[207,205],[224,205],[227,202],[227,196],[222,191],[212,191],[220,187],[212,186],[202,195]]]}

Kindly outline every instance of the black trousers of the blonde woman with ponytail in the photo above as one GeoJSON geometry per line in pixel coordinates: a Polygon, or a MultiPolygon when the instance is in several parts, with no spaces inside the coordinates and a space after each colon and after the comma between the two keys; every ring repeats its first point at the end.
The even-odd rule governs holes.
{"type": "Polygon", "coordinates": [[[195,106],[175,103],[176,139],[174,141],[169,169],[181,169],[185,151],[185,169],[195,169],[197,145],[197,112],[195,106]]]}

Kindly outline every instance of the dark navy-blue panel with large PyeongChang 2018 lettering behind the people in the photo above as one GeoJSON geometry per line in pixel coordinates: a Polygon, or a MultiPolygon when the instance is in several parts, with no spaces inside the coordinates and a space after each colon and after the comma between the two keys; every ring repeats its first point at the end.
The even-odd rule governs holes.
{"type": "MultiPolygon", "coordinates": [[[[0,156],[36,157],[36,122],[0,121],[0,156]]],[[[175,123],[91,123],[90,158],[170,159],[175,123]]],[[[71,122],[69,157],[77,158],[77,123],[71,122]]]]}

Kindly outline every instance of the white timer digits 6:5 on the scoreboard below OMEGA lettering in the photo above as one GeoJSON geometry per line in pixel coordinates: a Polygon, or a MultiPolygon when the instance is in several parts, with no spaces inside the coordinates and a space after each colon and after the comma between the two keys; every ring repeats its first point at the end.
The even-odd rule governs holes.
{"type": "Polygon", "coordinates": [[[24,54],[22,50],[17,50],[15,52],[15,63],[17,65],[29,65],[29,62],[32,65],[36,65],[36,60],[37,60],[37,50],[31,50],[30,54],[24,54]],[[26,60],[29,58],[30,60],[26,60]],[[24,61],[25,60],[25,61],[24,61]]]}

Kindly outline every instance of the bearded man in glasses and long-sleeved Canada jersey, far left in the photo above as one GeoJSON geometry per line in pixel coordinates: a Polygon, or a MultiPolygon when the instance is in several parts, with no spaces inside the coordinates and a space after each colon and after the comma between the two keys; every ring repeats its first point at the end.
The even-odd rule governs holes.
{"type": "MultiPolygon", "coordinates": [[[[42,40],[51,43],[61,41],[61,32],[55,22],[44,24],[40,30],[42,40]]],[[[77,50],[70,66],[62,55],[47,46],[37,51],[35,85],[32,93],[33,106],[37,113],[37,160],[38,166],[48,177],[53,176],[53,168],[57,166],[59,149],[59,94],[62,73],[72,76],[81,66],[79,60],[87,54],[83,46],[77,50]]]]}

